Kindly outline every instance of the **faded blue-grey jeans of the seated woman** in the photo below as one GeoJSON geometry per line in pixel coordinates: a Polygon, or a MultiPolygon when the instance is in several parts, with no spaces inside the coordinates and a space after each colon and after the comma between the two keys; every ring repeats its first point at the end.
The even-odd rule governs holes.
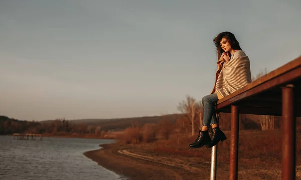
{"type": "Polygon", "coordinates": [[[209,125],[218,124],[214,110],[214,105],[217,101],[218,98],[216,93],[204,96],[202,98],[202,104],[204,107],[203,126],[209,127],[209,125]]]}

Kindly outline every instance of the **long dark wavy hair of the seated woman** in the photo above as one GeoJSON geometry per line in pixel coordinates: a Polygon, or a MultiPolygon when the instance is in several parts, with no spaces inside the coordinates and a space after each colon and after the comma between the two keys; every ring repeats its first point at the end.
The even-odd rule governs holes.
{"type": "Polygon", "coordinates": [[[228,31],[222,32],[220,34],[218,34],[214,39],[213,42],[216,46],[216,55],[217,55],[217,59],[219,60],[221,55],[223,54],[224,50],[222,49],[221,45],[220,45],[220,41],[226,38],[227,41],[230,43],[231,48],[234,50],[242,50],[239,46],[239,42],[236,40],[235,36],[233,33],[230,33],[228,31]]]}

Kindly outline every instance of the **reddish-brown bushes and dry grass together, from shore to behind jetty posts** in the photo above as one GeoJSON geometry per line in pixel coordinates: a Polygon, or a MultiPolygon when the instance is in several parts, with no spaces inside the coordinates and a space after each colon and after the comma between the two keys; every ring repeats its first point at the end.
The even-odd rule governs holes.
{"type": "MultiPolygon", "coordinates": [[[[190,149],[188,147],[195,141],[197,133],[192,137],[185,122],[185,118],[177,120],[175,124],[162,120],[158,124],[127,128],[118,138],[119,143],[126,143],[129,147],[123,153],[175,168],[188,169],[196,177],[207,179],[207,175],[210,174],[211,149],[206,147],[190,149]]],[[[223,125],[228,126],[229,124],[224,123],[223,125]]],[[[243,130],[247,126],[241,127],[239,132],[239,178],[281,179],[281,131],[278,129],[243,130]]],[[[227,128],[223,127],[222,129],[227,128]]],[[[224,131],[224,133],[228,139],[218,144],[218,179],[229,177],[231,132],[224,131]]],[[[296,170],[297,178],[301,179],[300,137],[301,132],[298,131],[296,170]]]]}

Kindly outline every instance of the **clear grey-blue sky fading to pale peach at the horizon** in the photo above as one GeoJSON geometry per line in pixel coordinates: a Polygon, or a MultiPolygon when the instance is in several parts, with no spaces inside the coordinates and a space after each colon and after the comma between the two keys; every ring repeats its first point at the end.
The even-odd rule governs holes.
{"type": "Polygon", "coordinates": [[[214,85],[230,31],[252,75],[301,55],[300,0],[1,0],[0,114],[21,120],[178,113],[214,85]]]}

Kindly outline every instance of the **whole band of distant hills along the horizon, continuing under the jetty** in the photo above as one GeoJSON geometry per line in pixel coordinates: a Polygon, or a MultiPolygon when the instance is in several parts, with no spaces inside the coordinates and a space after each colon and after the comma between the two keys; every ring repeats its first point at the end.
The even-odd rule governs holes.
{"type": "MultiPolygon", "coordinates": [[[[46,120],[46,121],[20,121],[0,115],[0,135],[12,133],[52,133],[52,134],[88,134],[94,133],[96,129],[105,131],[122,131],[133,125],[144,126],[147,123],[158,124],[161,120],[174,124],[178,119],[186,119],[185,128],[190,127],[190,121],[185,114],[168,114],[163,116],[144,116],[115,119],[77,119],[77,120],[46,120]],[[100,126],[100,127],[99,127],[100,126]]],[[[262,120],[267,120],[265,116],[241,114],[239,120],[240,129],[261,129],[262,120]]],[[[275,129],[280,129],[282,124],[281,116],[273,117],[275,129]]],[[[301,118],[296,119],[296,127],[301,130],[301,118]]],[[[198,119],[196,119],[198,121],[198,119]]],[[[267,122],[267,121],[264,121],[267,122]]],[[[231,114],[221,113],[220,126],[223,130],[231,129],[231,114]]],[[[184,125],[183,125],[184,127],[184,125]]]]}

